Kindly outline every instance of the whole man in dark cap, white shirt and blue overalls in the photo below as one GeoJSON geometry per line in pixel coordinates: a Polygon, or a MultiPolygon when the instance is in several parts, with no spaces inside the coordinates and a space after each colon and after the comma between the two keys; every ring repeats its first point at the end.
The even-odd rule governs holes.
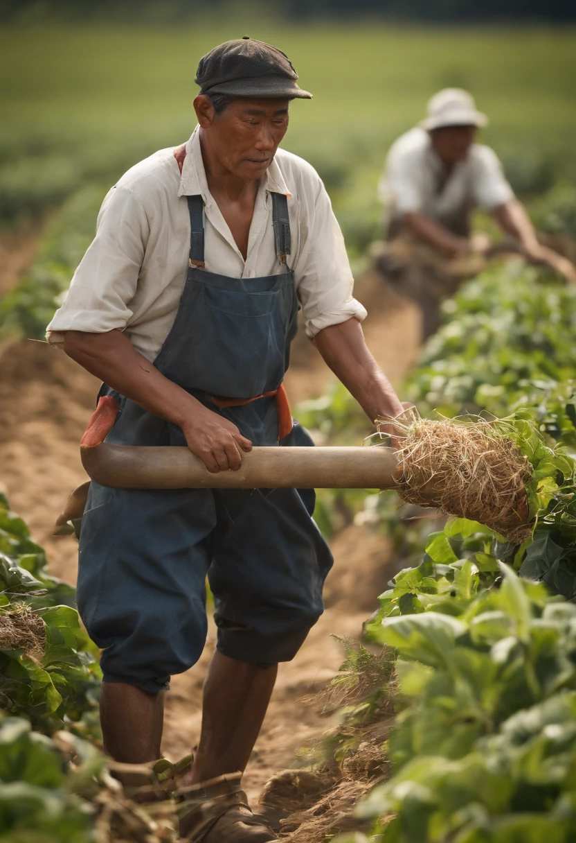
{"type": "MultiPolygon", "coordinates": [[[[291,99],[312,94],[274,46],[243,38],[201,59],[198,126],[109,191],[49,341],[102,379],[120,411],[108,442],[188,445],[212,472],[254,445],[312,445],[282,388],[298,301],[307,335],[367,415],[403,408],[368,352],[322,181],[278,148],[291,99]]],[[[160,756],[163,691],[205,644],[205,577],[217,647],[181,831],[205,843],[275,840],[240,777],[275,684],[323,611],[332,565],[296,489],[120,490],[93,483],[77,604],[104,652],[104,749],[160,756]]],[[[125,768],[127,785],[139,783],[125,768]]]]}

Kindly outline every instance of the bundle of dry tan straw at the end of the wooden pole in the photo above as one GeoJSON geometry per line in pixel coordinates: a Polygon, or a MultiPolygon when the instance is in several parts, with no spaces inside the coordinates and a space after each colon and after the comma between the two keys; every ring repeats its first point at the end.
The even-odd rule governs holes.
{"type": "Polygon", "coordinates": [[[525,492],[531,464],[505,435],[504,422],[405,414],[394,426],[404,502],[478,521],[515,544],[531,534],[525,492]]]}

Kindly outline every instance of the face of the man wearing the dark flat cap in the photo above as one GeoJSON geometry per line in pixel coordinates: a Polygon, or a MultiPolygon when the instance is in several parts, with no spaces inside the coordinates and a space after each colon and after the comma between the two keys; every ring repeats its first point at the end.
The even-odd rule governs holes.
{"type": "Polygon", "coordinates": [[[205,96],[195,100],[205,142],[218,163],[244,180],[264,175],[288,128],[288,99],[233,99],[217,115],[205,96]],[[201,100],[201,102],[199,102],[201,100]]]}

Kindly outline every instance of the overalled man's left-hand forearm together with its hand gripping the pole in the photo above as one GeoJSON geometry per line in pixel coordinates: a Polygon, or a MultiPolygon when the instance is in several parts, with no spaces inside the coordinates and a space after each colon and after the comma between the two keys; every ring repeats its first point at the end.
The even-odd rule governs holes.
{"type": "Polygon", "coordinates": [[[173,421],[184,432],[189,449],[213,474],[237,470],[252,450],[232,421],[208,410],[185,389],[165,378],[131,346],[120,330],[88,334],[67,330],[64,351],[88,372],[154,416],[173,421]]]}

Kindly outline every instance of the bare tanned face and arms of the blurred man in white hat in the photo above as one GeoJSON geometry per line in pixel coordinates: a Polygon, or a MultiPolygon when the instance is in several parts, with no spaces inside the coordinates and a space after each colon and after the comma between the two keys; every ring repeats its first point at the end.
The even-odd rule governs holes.
{"type": "MultiPolygon", "coordinates": [[[[459,161],[463,161],[476,137],[476,126],[445,126],[429,132],[432,147],[444,164],[446,175],[451,173],[459,161]]],[[[504,202],[493,209],[492,216],[500,228],[518,240],[520,250],[531,263],[550,266],[568,281],[576,282],[576,267],[570,260],[558,255],[552,249],[538,243],[536,231],[525,207],[516,199],[504,202]]],[[[434,246],[449,257],[467,255],[472,252],[486,252],[491,243],[488,236],[467,239],[452,234],[442,223],[422,212],[404,214],[403,222],[419,239],[434,246]]]]}

